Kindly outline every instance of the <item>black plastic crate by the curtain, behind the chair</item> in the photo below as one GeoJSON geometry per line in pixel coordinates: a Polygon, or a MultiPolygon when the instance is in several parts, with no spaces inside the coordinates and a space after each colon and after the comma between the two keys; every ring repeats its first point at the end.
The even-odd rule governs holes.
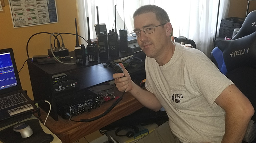
{"type": "Polygon", "coordinates": [[[241,28],[244,22],[244,18],[238,17],[229,17],[221,19],[220,28],[219,28],[219,37],[229,37],[232,38],[233,31],[235,28],[241,28]]]}

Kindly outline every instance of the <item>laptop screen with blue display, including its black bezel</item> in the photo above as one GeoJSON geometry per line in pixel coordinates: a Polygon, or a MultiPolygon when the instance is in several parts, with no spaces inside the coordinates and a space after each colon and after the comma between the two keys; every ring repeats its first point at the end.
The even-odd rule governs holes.
{"type": "Polygon", "coordinates": [[[0,49],[0,93],[20,90],[21,84],[12,49],[0,49]]]}

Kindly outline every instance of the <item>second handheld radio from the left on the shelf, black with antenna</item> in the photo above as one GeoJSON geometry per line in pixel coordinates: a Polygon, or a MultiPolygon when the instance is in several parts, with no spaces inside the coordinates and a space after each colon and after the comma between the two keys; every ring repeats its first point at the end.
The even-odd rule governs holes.
{"type": "Polygon", "coordinates": [[[87,45],[88,61],[95,62],[95,61],[98,61],[97,44],[95,42],[91,43],[89,17],[87,17],[87,25],[88,25],[88,45],[87,45]]]}

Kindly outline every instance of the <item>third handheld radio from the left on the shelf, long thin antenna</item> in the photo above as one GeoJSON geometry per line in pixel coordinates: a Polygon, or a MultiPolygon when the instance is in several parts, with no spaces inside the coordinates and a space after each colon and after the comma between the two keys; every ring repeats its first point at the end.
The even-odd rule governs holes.
{"type": "MultiPolygon", "coordinates": [[[[107,31],[100,32],[100,24],[99,24],[99,12],[98,6],[97,9],[97,22],[98,22],[98,49],[99,49],[99,57],[100,58],[108,58],[108,43],[107,43],[107,31]]],[[[97,32],[96,32],[97,33],[97,32]]]]}

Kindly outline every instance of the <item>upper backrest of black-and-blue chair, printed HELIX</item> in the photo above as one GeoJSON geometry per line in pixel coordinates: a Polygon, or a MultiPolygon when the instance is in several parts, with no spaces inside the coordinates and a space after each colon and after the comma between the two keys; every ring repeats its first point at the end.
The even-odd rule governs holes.
{"type": "Polygon", "coordinates": [[[226,75],[241,67],[256,67],[256,10],[245,18],[242,27],[231,40],[217,40],[210,59],[226,75]]]}

